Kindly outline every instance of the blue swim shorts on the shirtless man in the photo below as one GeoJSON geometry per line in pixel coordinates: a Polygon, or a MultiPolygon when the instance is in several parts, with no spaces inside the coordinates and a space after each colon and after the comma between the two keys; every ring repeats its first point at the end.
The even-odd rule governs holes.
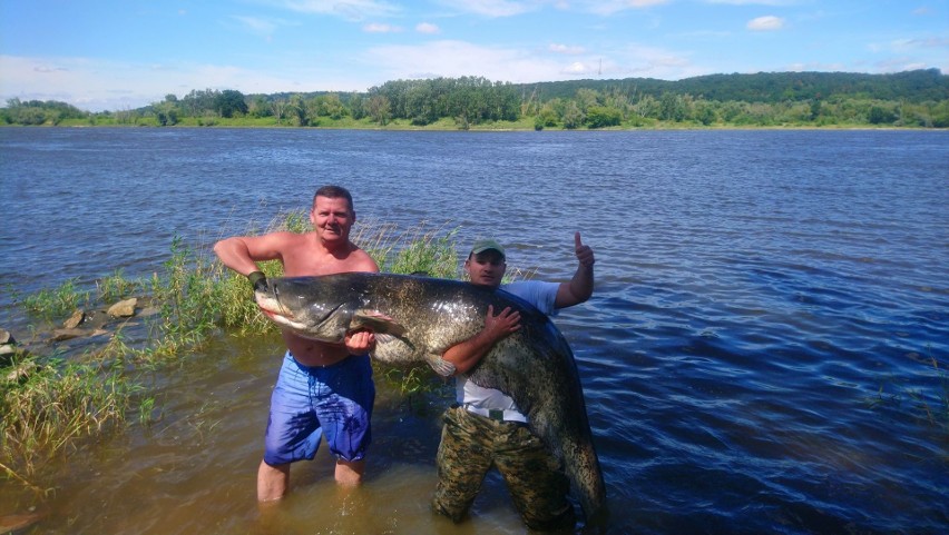
{"type": "Polygon", "coordinates": [[[372,442],[370,418],[375,385],[369,355],[332,366],[303,366],[287,351],[271,396],[264,462],[312,460],[326,435],[337,458],[360,460],[372,442]]]}

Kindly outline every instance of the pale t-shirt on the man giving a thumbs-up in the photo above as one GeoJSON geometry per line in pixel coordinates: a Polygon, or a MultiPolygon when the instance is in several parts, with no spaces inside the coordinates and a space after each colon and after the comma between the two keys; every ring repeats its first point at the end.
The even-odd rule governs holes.
{"type": "MultiPolygon", "coordinates": [[[[554,308],[554,303],[557,300],[557,290],[559,288],[560,283],[522,280],[511,283],[509,285],[501,285],[500,289],[530,303],[538,310],[548,316],[556,316],[557,309],[554,308]]],[[[499,311],[500,310],[495,310],[495,313],[499,311]]],[[[505,410],[506,420],[527,422],[527,416],[520,414],[517,405],[513,403],[513,399],[511,399],[510,396],[505,395],[501,390],[480,387],[468,380],[468,378],[463,375],[460,375],[456,377],[454,392],[458,403],[466,407],[474,407],[477,409],[500,409],[505,410]]]]}

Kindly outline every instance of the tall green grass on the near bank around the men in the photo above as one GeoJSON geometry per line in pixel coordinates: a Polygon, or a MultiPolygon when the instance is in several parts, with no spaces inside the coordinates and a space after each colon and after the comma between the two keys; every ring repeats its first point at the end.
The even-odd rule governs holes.
{"type": "MultiPolygon", "coordinates": [[[[305,211],[280,215],[265,231],[309,229],[305,211]]],[[[414,228],[399,232],[393,225],[360,222],[353,239],[389,273],[427,273],[457,277],[457,230],[414,228]]],[[[276,261],[264,273],[282,275],[276,261]]],[[[127,344],[121,328],[107,343],[66,358],[18,353],[0,363],[0,478],[37,493],[39,467],[66,452],[118,433],[133,422],[151,423],[156,400],[146,385],[156,369],[183,366],[211,337],[222,331],[241,335],[276,333],[260,314],[246,277],[226,269],[209,251],[195,250],[175,238],[170,256],[147,281],[128,280],[120,271],[96,283],[98,291],[77,287],[75,279],[52,290],[18,298],[37,318],[59,320],[79,307],[105,305],[139,291],[159,309],[146,318],[147,340],[127,344]],[[137,410],[137,416],[129,413],[137,410]]],[[[437,382],[427,366],[389,368],[380,374],[403,394],[432,390],[437,382]]],[[[411,403],[411,399],[410,399],[411,403]]],[[[160,407],[157,409],[160,413],[160,407]]],[[[40,475],[41,476],[41,475],[40,475]]]]}

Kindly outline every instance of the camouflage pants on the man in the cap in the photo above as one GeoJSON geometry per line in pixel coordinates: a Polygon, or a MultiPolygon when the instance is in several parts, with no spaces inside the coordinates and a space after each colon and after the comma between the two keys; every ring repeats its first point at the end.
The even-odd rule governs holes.
{"type": "Polygon", "coordinates": [[[524,424],[498,422],[449,408],[438,448],[438,487],[432,507],[460,522],[491,466],[508,485],[525,524],[536,531],[573,529],[570,484],[559,463],[524,424]]]}

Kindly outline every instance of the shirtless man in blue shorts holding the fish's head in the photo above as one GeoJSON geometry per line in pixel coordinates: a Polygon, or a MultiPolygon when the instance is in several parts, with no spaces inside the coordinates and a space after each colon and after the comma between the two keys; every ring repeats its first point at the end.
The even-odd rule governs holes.
{"type": "MultiPolygon", "coordinates": [[[[256,262],[280,260],[287,277],[346,271],[378,273],[379,266],[350,241],[355,222],[352,196],[324,186],[313,197],[313,231],[237,236],[214,245],[228,268],[247,276],[256,288],[266,278],[256,262]]],[[[344,345],[325,344],[283,333],[286,355],[271,397],[264,458],[257,470],[257,501],[282,498],[290,485],[290,465],[311,460],[321,435],[336,457],[335,478],[358,485],[365,469],[372,434],[370,418],[375,386],[366,351],[375,344],[369,331],[346,336],[344,345]]]]}

